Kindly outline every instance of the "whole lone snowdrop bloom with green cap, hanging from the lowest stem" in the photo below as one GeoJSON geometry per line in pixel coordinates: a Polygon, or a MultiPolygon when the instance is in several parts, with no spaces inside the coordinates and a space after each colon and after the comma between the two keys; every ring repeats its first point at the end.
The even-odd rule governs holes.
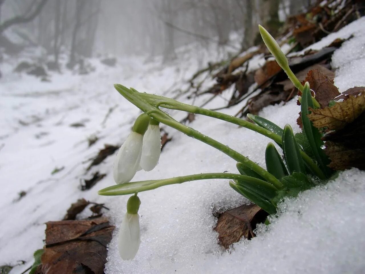
{"type": "Polygon", "coordinates": [[[141,205],[141,200],[137,195],[128,199],[127,213],[120,226],[118,239],[119,255],[123,260],[132,260],[137,254],[139,243],[141,242],[138,215],[139,205],[141,205]]]}

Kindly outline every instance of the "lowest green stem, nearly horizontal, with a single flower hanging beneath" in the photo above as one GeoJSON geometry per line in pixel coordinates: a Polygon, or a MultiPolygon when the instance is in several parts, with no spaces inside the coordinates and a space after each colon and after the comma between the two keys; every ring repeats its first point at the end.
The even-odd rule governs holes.
{"type": "Polygon", "coordinates": [[[181,184],[184,182],[195,181],[195,180],[206,180],[206,179],[231,179],[231,180],[240,180],[242,182],[252,182],[252,183],[257,183],[258,181],[262,182],[259,179],[241,174],[203,173],[203,174],[193,174],[193,175],[180,176],[161,180],[148,180],[148,181],[116,184],[114,186],[106,187],[105,189],[99,190],[98,194],[106,196],[127,195],[127,194],[133,194],[137,191],[142,192],[142,191],[157,189],[158,187],[168,186],[169,184],[181,184]]]}

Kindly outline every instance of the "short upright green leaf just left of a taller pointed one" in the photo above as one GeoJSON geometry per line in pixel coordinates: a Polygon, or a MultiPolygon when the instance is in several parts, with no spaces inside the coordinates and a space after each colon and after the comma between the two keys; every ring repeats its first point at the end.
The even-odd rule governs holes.
{"type": "Polygon", "coordinates": [[[266,146],[265,162],[266,170],[268,170],[268,172],[274,175],[277,179],[280,180],[282,177],[288,175],[287,168],[272,142],[269,142],[266,146]]]}

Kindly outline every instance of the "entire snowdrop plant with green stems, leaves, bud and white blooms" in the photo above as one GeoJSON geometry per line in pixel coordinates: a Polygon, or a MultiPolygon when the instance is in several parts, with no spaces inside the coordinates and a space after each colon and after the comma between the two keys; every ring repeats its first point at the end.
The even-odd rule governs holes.
{"type": "Polygon", "coordinates": [[[119,231],[119,253],[122,259],[133,259],[139,248],[138,209],[141,201],[137,197],[138,192],[193,180],[231,179],[233,181],[230,181],[230,186],[235,191],[260,206],[269,214],[275,214],[277,212],[277,203],[283,197],[296,196],[301,191],[327,182],[328,178],[331,178],[333,175],[334,171],[327,168],[326,165],[328,159],[322,151],[323,141],[321,136],[316,134],[318,131],[316,131],[317,129],[314,128],[307,116],[309,109],[315,108],[316,104],[318,104],[311,95],[309,83],[306,82],[304,86],[300,83],[291,71],[288,60],[285,54],[281,52],[277,42],[261,26],[260,33],[278,64],[287,73],[292,83],[302,92],[301,120],[303,123],[303,133],[301,134],[308,140],[310,148],[305,150],[297,143],[296,136],[294,136],[290,125],[286,125],[282,129],[269,120],[247,114],[247,117],[255,122],[253,124],[214,110],[184,104],[164,96],[140,93],[133,88],[116,84],[116,90],[124,98],[145,112],[135,121],[132,132],[121,146],[116,157],[114,179],[117,185],[109,186],[98,192],[100,195],[134,194],[134,196],[128,199],[127,213],[119,231]],[[269,143],[265,151],[267,169],[265,170],[234,149],[176,121],[168,113],[162,111],[160,107],[206,115],[253,130],[276,142],[283,149],[284,157],[281,157],[275,146],[269,143]],[[237,161],[239,174],[224,172],[200,173],[167,179],[130,182],[138,170],[150,171],[157,165],[161,152],[159,122],[230,156],[237,161]],[[312,152],[313,158],[308,156],[307,153],[309,152],[312,152]]]}

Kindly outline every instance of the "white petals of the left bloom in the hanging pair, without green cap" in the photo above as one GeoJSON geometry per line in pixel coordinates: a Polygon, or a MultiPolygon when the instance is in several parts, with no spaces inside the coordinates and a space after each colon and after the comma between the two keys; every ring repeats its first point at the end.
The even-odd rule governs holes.
{"type": "Polygon", "coordinates": [[[141,160],[143,136],[131,132],[120,147],[114,161],[114,180],[117,184],[129,182],[137,172],[141,160]]]}

